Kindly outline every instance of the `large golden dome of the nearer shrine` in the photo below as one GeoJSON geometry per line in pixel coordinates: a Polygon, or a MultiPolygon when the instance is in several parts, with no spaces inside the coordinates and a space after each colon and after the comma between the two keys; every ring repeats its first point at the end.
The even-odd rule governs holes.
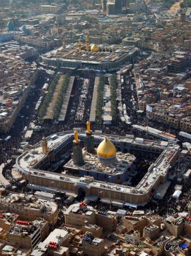
{"type": "Polygon", "coordinates": [[[101,158],[112,158],[116,156],[116,147],[105,138],[97,148],[97,155],[101,158]]]}

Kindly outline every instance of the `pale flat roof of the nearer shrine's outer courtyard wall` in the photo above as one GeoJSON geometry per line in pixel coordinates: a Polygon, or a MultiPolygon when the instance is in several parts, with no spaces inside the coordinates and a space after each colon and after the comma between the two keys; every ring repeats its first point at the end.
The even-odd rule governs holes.
{"type": "MultiPolygon", "coordinates": [[[[56,136],[49,136],[47,138],[48,142],[48,147],[49,149],[51,148],[57,148],[59,145],[66,141],[72,141],[73,139],[73,132],[68,131],[68,132],[61,132],[55,134],[56,136]]],[[[102,141],[106,135],[104,134],[98,134],[94,133],[94,139],[98,139],[99,141],[102,141]]],[[[80,132],[78,134],[79,139],[84,139],[85,137],[85,132],[80,132]]],[[[107,134],[107,137],[112,140],[113,142],[116,143],[131,143],[132,145],[144,145],[144,146],[149,146],[150,148],[158,148],[159,152],[161,151],[161,142],[160,141],[151,141],[151,140],[138,140],[133,139],[133,138],[128,138],[128,137],[122,137],[122,136],[116,136],[116,135],[109,135],[107,134]]],[[[160,176],[166,175],[166,171],[169,168],[169,162],[171,161],[169,156],[172,154],[172,152],[176,152],[178,150],[179,146],[173,142],[168,143],[166,147],[164,147],[163,152],[161,155],[158,157],[156,162],[152,164],[149,168],[149,171],[146,173],[146,175],[143,177],[143,179],[140,181],[140,183],[137,185],[136,188],[133,187],[128,187],[124,185],[118,185],[116,184],[111,184],[111,189],[118,189],[121,192],[125,193],[139,193],[141,190],[141,193],[144,193],[148,191],[150,186],[152,186],[153,182],[160,176]],[[135,191],[136,190],[136,191],[135,191]]],[[[173,154],[174,155],[174,154],[173,154]]],[[[26,151],[17,159],[17,166],[19,169],[22,169],[24,172],[28,173],[29,172],[29,165],[30,165],[30,171],[31,175],[35,176],[43,176],[45,179],[55,179],[60,181],[60,177],[62,176],[64,182],[79,182],[79,178],[71,175],[63,175],[63,174],[57,174],[57,173],[52,173],[52,172],[43,172],[40,170],[33,170],[33,166],[36,163],[39,163],[39,161],[42,161],[46,156],[46,154],[42,153],[42,146],[40,143],[37,143],[36,145],[33,146],[33,148],[29,151],[26,151]]],[[[108,184],[105,184],[105,182],[101,181],[93,181],[85,184],[86,186],[96,186],[96,187],[105,187],[110,189],[108,184]]]]}

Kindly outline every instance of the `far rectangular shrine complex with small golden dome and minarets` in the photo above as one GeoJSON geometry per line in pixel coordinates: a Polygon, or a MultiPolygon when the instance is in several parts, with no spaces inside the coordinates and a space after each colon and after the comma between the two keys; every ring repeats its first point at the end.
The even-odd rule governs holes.
{"type": "Polygon", "coordinates": [[[134,46],[92,44],[89,48],[84,43],[79,45],[80,48],[76,43],[56,48],[43,54],[42,62],[62,68],[109,70],[132,62],[139,55],[134,46]]]}

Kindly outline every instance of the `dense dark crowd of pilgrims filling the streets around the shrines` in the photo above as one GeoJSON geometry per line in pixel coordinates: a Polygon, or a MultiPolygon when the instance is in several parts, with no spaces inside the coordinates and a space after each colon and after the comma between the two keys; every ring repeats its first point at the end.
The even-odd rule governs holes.
{"type": "MultiPolygon", "coordinates": [[[[76,110],[78,108],[79,100],[81,100],[80,92],[81,92],[84,80],[80,76],[76,76],[73,90],[71,93],[72,96],[70,97],[68,110],[66,113],[66,122],[61,123],[61,122],[54,121],[54,122],[40,124],[42,128],[40,131],[36,131],[33,133],[30,139],[30,144],[35,144],[39,142],[43,136],[49,136],[57,132],[72,130],[74,127],[80,127],[82,130],[86,129],[85,123],[88,120],[89,113],[90,113],[90,106],[91,106],[93,85],[94,85],[94,74],[90,72],[89,73],[86,72],[84,74],[84,78],[88,79],[89,84],[87,88],[88,89],[87,97],[83,104],[84,114],[83,114],[82,120],[80,122],[79,120],[76,121],[75,117],[76,117],[76,110]]],[[[2,164],[3,161],[7,161],[11,156],[17,155],[17,149],[20,148],[20,144],[24,140],[23,128],[25,126],[28,126],[29,123],[33,122],[34,120],[37,121],[36,124],[38,125],[38,115],[37,115],[37,112],[35,111],[35,106],[39,97],[42,95],[41,88],[45,83],[46,79],[47,79],[47,74],[42,73],[39,80],[36,82],[36,87],[32,89],[31,93],[29,94],[24,108],[21,110],[19,116],[17,117],[14,123],[14,126],[9,131],[9,135],[11,135],[11,140],[9,141],[3,140],[3,138],[8,136],[8,133],[1,135],[2,144],[0,148],[1,149],[0,164],[2,164]],[[4,155],[4,159],[3,159],[3,155],[4,155]]],[[[127,115],[131,118],[132,124],[146,126],[148,122],[149,126],[168,132],[169,127],[167,125],[157,121],[152,121],[152,120],[147,121],[145,115],[137,114],[137,110],[138,110],[137,106],[135,105],[134,107],[132,105],[132,101],[130,101],[132,95],[134,96],[135,101],[137,101],[136,90],[131,90],[131,86],[130,86],[131,84],[132,84],[132,78],[129,75],[124,76],[124,84],[122,89],[122,101],[123,101],[123,104],[126,104],[127,115]]],[[[121,136],[125,136],[126,134],[132,134],[135,137],[143,137],[145,139],[147,138],[151,140],[152,139],[156,140],[156,137],[153,137],[152,135],[149,135],[149,134],[142,133],[138,130],[133,129],[131,125],[121,122],[120,116],[117,117],[117,122],[114,125],[107,126],[104,124],[95,123],[91,125],[91,129],[93,131],[102,130],[102,132],[106,134],[115,134],[115,135],[121,135],[121,136]]],[[[178,131],[170,127],[170,133],[177,136],[178,131]]],[[[178,142],[180,145],[185,141],[190,142],[188,139],[184,139],[182,137],[180,138],[177,136],[177,138],[180,139],[180,142],[178,142]]],[[[140,176],[142,174],[145,174],[149,165],[153,161],[154,160],[149,157],[138,159],[137,171],[140,176]]],[[[10,170],[14,163],[15,163],[14,160],[12,160],[12,163],[7,166],[7,170],[10,170]]],[[[4,173],[6,173],[6,177],[10,179],[11,183],[14,184],[14,180],[11,175],[11,172],[7,170],[4,173]]],[[[134,183],[137,184],[138,180],[140,180],[140,177],[135,178],[134,183]]],[[[169,208],[173,209],[173,211],[175,212],[186,210],[187,203],[190,200],[190,180],[185,181],[185,185],[183,186],[183,191],[182,191],[183,193],[180,195],[180,200],[175,200],[171,198],[171,195],[174,191],[173,190],[174,182],[176,181],[173,181],[171,183],[170,187],[167,190],[167,194],[163,200],[159,200],[158,202],[154,200],[150,200],[150,202],[148,203],[148,208],[150,210],[155,210],[156,207],[159,206],[159,212],[163,216],[169,214],[169,208]]],[[[20,191],[29,192],[29,189],[26,186],[21,186],[18,182],[16,182],[15,184],[17,185],[17,188],[20,189],[20,191]]],[[[62,201],[61,204],[65,204],[66,207],[68,206],[68,202],[66,202],[65,200],[64,202],[62,201]]],[[[101,208],[101,202],[96,203],[96,205],[98,209],[101,208]]],[[[105,205],[104,207],[107,210],[109,209],[110,206],[105,205]]],[[[115,207],[112,207],[112,210],[115,211],[116,210],[115,207]]]]}

